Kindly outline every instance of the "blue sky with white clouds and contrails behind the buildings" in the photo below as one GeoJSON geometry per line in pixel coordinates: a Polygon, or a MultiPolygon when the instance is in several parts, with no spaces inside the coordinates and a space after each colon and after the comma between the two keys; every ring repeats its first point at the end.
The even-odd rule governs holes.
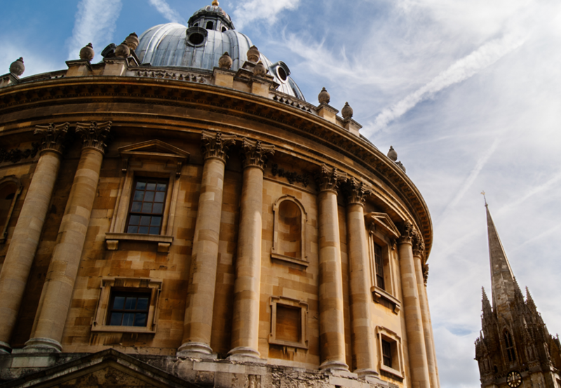
{"type": "MultiPolygon", "coordinates": [[[[64,69],[130,32],[185,22],[210,1],[3,4],[0,69],[64,69]]],[[[479,387],[473,342],[489,291],[485,208],[520,286],[561,333],[561,4],[558,0],[223,0],[236,28],[283,60],[309,102],[349,101],[390,145],[435,227],[428,294],[442,387],[479,387]]],[[[3,71],[0,70],[0,73],[3,71]]]]}

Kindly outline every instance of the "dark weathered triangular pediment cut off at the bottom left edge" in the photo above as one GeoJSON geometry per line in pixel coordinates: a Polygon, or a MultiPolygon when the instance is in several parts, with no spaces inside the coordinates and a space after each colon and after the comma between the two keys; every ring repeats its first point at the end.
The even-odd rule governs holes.
{"type": "Polygon", "coordinates": [[[114,349],[81,357],[6,383],[6,387],[195,387],[189,382],[114,349]]]}

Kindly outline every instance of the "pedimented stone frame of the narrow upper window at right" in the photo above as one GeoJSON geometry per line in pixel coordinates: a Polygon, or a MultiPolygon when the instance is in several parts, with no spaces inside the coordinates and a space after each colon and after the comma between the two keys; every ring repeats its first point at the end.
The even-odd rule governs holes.
{"type": "Polygon", "coordinates": [[[370,265],[370,291],[374,302],[391,308],[394,314],[399,314],[401,302],[398,299],[398,286],[396,268],[393,268],[392,259],[396,250],[396,239],[401,235],[398,228],[386,213],[372,212],[365,215],[367,225],[368,262],[370,265]],[[384,262],[385,287],[377,286],[376,260],[374,244],[381,247],[384,262]]]}

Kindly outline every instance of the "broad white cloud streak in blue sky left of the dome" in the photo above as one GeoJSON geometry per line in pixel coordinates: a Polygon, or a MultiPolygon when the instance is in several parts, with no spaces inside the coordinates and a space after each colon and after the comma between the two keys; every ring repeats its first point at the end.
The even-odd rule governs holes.
{"type": "Polygon", "coordinates": [[[68,59],[79,59],[80,49],[88,43],[93,44],[95,57],[100,58],[104,45],[113,36],[121,8],[121,0],[82,0],[69,39],[68,59]]]}

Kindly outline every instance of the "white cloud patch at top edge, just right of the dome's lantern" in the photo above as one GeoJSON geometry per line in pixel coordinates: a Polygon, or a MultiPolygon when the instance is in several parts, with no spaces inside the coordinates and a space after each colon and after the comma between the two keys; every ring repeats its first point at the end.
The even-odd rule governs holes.
{"type": "Polygon", "coordinates": [[[278,14],[285,10],[298,8],[300,0],[248,0],[243,1],[234,11],[236,27],[243,28],[250,22],[265,20],[269,24],[276,22],[278,14]]]}

